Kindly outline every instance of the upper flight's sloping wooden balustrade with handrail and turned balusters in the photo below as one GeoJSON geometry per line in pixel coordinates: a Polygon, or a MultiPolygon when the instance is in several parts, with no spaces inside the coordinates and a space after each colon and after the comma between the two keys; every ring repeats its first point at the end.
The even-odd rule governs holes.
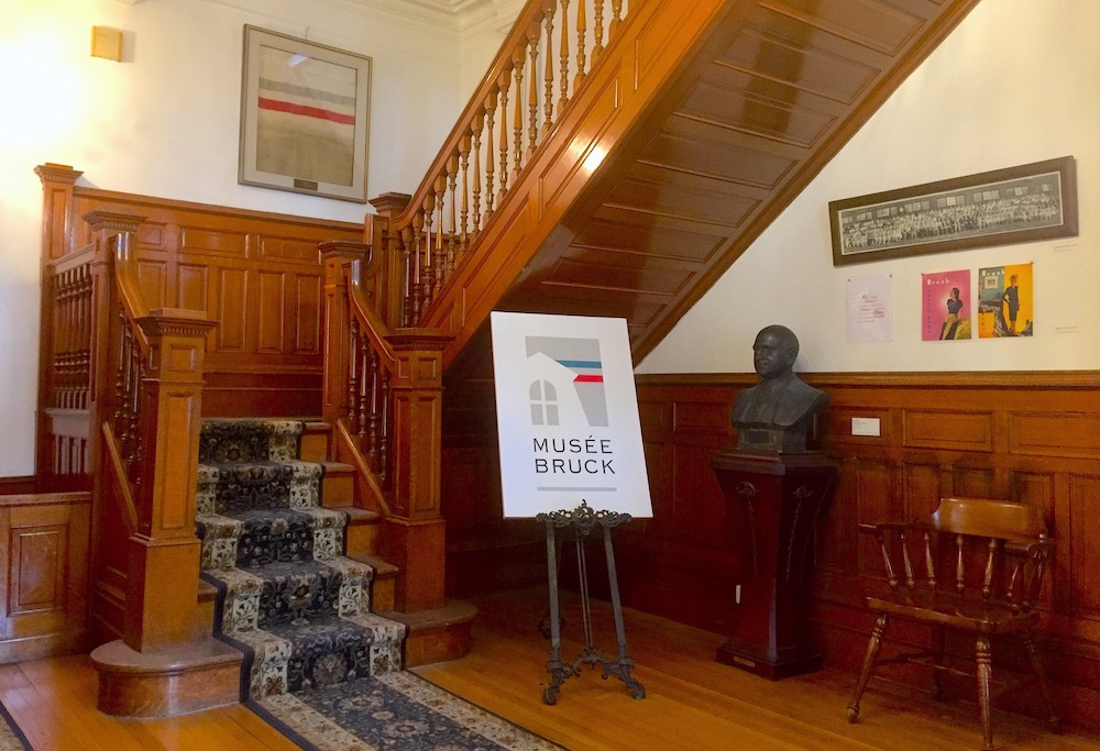
{"type": "Polygon", "coordinates": [[[557,132],[625,11],[622,0],[528,0],[420,186],[385,222],[385,249],[375,252],[399,268],[387,274],[400,279],[400,288],[389,290],[400,302],[383,307],[399,311],[392,323],[418,325],[441,296],[557,132]]]}

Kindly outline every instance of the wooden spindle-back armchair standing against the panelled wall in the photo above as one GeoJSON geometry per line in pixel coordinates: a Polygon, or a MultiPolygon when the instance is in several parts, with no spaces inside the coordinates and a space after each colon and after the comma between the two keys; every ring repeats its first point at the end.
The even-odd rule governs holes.
{"type": "Polygon", "coordinates": [[[982,749],[990,751],[993,748],[990,638],[1018,634],[1038,674],[1047,719],[1057,732],[1058,717],[1033,638],[1040,616],[1035,600],[1054,550],[1040,510],[1001,500],[944,498],[927,519],[866,524],[860,531],[878,541],[890,590],[882,597],[866,598],[867,607],[878,614],[878,622],[848,704],[848,721],[855,722],[859,717],[859,699],[876,665],[920,662],[933,669],[936,699],[942,695],[943,672],[977,676],[982,749]],[[947,574],[943,579],[937,575],[941,566],[947,574]],[[879,648],[892,617],[932,627],[931,649],[879,659],[879,648]],[[966,632],[975,639],[975,672],[944,664],[946,629],[966,632]]]}

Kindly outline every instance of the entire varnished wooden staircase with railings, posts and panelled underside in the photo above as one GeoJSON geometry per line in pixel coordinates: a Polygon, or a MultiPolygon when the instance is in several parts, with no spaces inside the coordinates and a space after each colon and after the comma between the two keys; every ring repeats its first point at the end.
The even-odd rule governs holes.
{"type": "Polygon", "coordinates": [[[119,638],[119,674],[157,665],[116,684],[109,710],[224,698],[197,691],[210,656],[195,654],[217,652],[198,421],[272,404],[320,418],[304,450],[326,463],[324,505],[351,517],[352,554],[385,572],[387,616],[419,634],[406,662],[462,654],[442,443],[492,424],[490,311],[623,317],[642,357],[976,1],[530,0],[418,190],[372,201],[361,238],[268,238],[285,218],[238,212],[238,230],[229,210],[84,190],[43,165],[38,472],[94,477],[91,631],[119,638]],[[234,243],[273,249],[268,266],[226,262],[234,243]],[[230,284],[316,290],[268,306],[297,311],[275,330],[300,351],[265,367],[287,336],[250,333],[230,284]]]}

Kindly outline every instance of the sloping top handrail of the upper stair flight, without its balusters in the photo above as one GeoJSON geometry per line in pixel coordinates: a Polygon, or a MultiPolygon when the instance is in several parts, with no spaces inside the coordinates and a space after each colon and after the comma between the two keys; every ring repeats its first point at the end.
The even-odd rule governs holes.
{"type": "MultiPolygon", "coordinates": [[[[512,31],[497,49],[496,56],[493,58],[493,63],[482,78],[481,84],[479,84],[470,101],[459,115],[454,128],[451,129],[443,145],[436,154],[436,158],[432,159],[431,166],[425,173],[420,186],[413,194],[408,206],[394,221],[394,229],[396,231],[409,227],[413,223],[413,218],[419,212],[420,207],[426,201],[431,200],[430,196],[435,196],[437,179],[440,175],[447,175],[448,161],[462,150],[462,142],[474,130],[474,123],[480,117],[480,111],[483,109],[485,101],[496,96],[501,88],[502,79],[505,76],[509,76],[512,70],[515,69],[517,51],[524,49],[528,45],[528,30],[532,25],[538,25],[542,22],[547,7],[556,4],[557,0],[528,0],[527,4],[524,5],[524,9],[519,12],[516,22],[512,26],[512,31]]],[[[520,65],[522,65],[524,56],[520,54],[518,58],[520,65]]]]}

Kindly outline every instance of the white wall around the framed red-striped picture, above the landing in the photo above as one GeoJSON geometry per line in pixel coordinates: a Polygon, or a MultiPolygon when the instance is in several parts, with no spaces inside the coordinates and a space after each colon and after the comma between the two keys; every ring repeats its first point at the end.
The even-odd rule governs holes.
{"type": "Polygon", "coordinates": [[[72,165],[110,190],[362,221],[364,205],[237,184],[245,23],[372,57],[371,196],[414,191],[465,103],[458,32],[365,5],[3,0],[0,15],[0,476],[34,471],[35,165],[72,165]],[[124,62],[90,57],[92,25],[125,32],[124,62]]]}

